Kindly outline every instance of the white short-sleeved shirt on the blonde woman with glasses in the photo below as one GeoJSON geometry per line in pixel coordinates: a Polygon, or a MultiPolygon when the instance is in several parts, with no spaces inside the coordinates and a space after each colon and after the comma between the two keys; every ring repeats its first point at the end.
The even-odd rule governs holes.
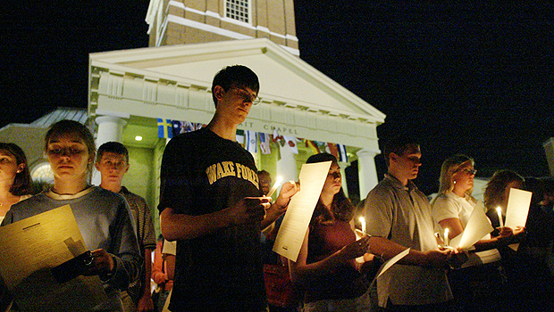
{"type": "MultiPolygon", "coordinates": [[[[437,195],[437,199],[432,204],[432,218],[435,223],[435,229],[437,231],[442,231],[442,227],[439,222],[447,218],[458,218],[462,224],[462,227],[466,228],[467,222],[469,221],[475,206],[476,202],[474,198],[468,194],[464,197],[460,197],[452,192],[437,195]]],[[[486,234],[483,237],[483,239],[490,238],[491,234],[486,234]]],[[[496,249],[470,252],[469,259],[467,259],[462,267],[473,267],[486,263],[492,263],[499,261],[499,259],[500,253],[499,250],[496,249]]]]}

